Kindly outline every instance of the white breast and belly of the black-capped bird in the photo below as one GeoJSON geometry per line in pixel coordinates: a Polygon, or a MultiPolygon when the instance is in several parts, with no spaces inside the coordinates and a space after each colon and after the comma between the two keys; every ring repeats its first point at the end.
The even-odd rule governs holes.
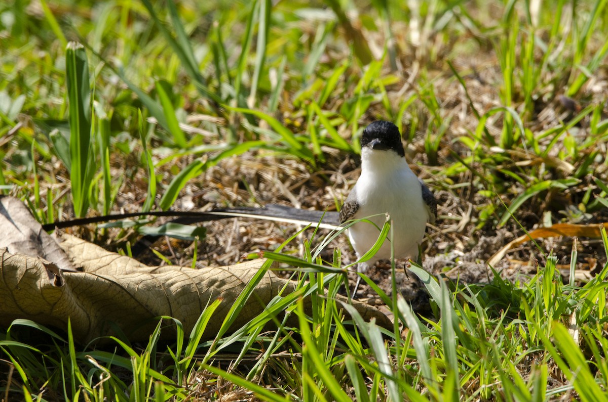
{"type": "MultiPolygon", "coordinates": [[[[418,178],[407,166],[406,159],[392,151],[363,149],[361,168],[361,177],[354,188],[359,202],[354,218],[380,214],[370,220],[382,228],[385,213],[388,213],[395,257],[416,259],[428,219],[418,178]]],[[[367,222],[356,223],[350,228],[348,236],[359,257],[375,244],[378,228],[367,222]]],[[[361,268],[365,270],[379,259],[390,259],[390,256],[391,245],[387,238],[376,256],[361,268]]]]}

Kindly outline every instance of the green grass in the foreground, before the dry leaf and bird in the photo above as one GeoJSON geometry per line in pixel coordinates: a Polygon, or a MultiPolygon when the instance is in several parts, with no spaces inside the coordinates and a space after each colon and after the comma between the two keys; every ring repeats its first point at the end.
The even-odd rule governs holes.
{"type": "Polygon", "coordinates": [[[495,276],[486,285],[450,284],[453,290],[413,265],[412,272],[426,285],[438,316],[437,321],[421,318],[399,295],[388,307],[405,325],[404,333],[399,327],[393,331],[373,321],[365,322],[350,304],[335,299],[340,275],[313,270],[308,275],[315,281],[300,281],[295,293],[278,295],[260,316],[229,334],[226,330],[255,288],[257,280],[252,279],[224,319],[223,329],[209,342],[201,342],[201,335],[213,319],[219,300],[205,308],[187,338],[181,323],[174,322],[178,341],[168,349],[159,342],[162,322],[171,321],[166,317],[140,352],[112,338],[126,356],[116,350],[76,352],[69,327],[65,339],[24,320],[13,323],[0,347],[28,392],[36,395],[36,387],[44,383],[44,378],[54,381],[59,375],[66,399],[86,394],[90,400],[102,400],[106,395],[116,400],[138,395],[143,400],[162,392],[183,400],[196,395],[192,381],[207,372],[218,375],[217,380],[206,380],[216,397],[223,390],[214,389],[213,384],[223,378],[264,400],[285,400],[289,396],[313,400],[356,396],[361,401],[531,400],[533,395],[547,400],[570,392],[576,392],[581,400],[598,400],[607,378],[604,353],[608,345],[601,322],[606,312],[604,277],[608,266],[589,283],[572,286],[556,281],[555,261],[550,256],[525,284],[510,284],[495,276]],[[323,287],[328,289],[326,296],[320,291],[323,287]],[[313,298],[312,314],[303,310],[301,296],[305,294],[313,298]],[[350,319],[345,319],[344,311],[350,319]],[[286,316],[275,321],[278,312],[286,316]],[[286,325],[289,316],[297,318],[297,326],[286,325]],[[263,333],[264,325],[273,321],[277,328],[263,333]],[[14,341],[13,331],[24,325],[50,336],[54,343],[36,349],[14,341]],[[301,337],[302,344],[295,341],[295,335],[301,337]],[[233,352],[229,371],[211,364],[219,352],[234,347],[238,352],[233,352]],[[260,364],[246,364],[243,358],[251,355],[261,356],[266,369],[261,370],[260,364]],[[44,366],[35,363],[39,359],[46,362],[44,366]],[[156,363],[167,359],[173,363],[156,363]],[[530,359],[536,362],[533,366],[526,363],[530,359]],[[132,370],[133,382],[119,380],[114,373],[117,367],[132,370]],[[553,375],[553,382],[547,383],[548,370],[558,370],[565,382],[558,384],[559,377],[553,375]],[[98,378],[103,381],[98,382],[98,378]]]}

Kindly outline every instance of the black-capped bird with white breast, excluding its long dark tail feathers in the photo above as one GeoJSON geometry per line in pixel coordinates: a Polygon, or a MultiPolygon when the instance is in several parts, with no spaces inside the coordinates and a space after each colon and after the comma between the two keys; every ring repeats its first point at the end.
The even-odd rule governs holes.
{"type": "MultiPolygon", "coordinates": [[[[339,223],[367,218],[348,227],[348,238],[358,259],[378,240],[386,216],[390,218],[396,259],[418,259],[427,223],[437,220],[437,200],[407,164],[401,134],[389,121],[373,121],[361,135],[361,175],[342,208],[339,223]]],[[[357,271],[366,273],[380,260],[391,258],[390,236],[357,271]]],[[[353,298],[361,282],[357,278],[353,298]]]]}

